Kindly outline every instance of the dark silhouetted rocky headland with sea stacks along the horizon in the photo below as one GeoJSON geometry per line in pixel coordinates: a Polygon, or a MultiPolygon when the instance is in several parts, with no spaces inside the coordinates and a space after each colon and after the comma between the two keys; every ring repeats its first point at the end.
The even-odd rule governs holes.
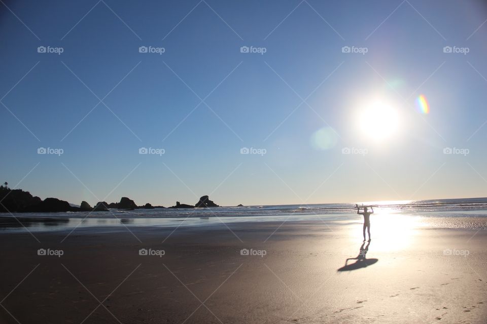
{"type": "MultiPolygon", "coordinates": [[[[194,205],[181,204],[176,201],[175,206],[168,208],[208,208],[220,207],[215,204],[207,195],[201,196],[194,205]]],[[[0,185],[0,212],[2,213],[53,213],[53,212],[108,212],[109,209],[135,210],[135,209],[156,209],[164,206],[152,206],[147,203],[144,206],[137,206],[128,197],[122,197],[118,203],[107,203],[99,201],[91,207],[86,201],[81,201],[79,207],[70,205],[65,200],[58,198],[46,198],[42,200],[38,196],[32,196],[30,192],[22,189],[10,189],[8,183],[0,185]]]]}

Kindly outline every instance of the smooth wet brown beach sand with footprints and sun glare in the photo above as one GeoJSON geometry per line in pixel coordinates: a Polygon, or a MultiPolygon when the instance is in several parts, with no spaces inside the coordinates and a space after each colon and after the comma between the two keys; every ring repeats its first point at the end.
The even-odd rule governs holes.
{"type": "Polygon", "coordinates": [[[338,271],[360,252],[360,223],[280,225],[79,228],[67,238],[34,233],[40,243],[2,233],[0,316],[21,324],[485,323],[485,230],[405,226],[374,236],[372,222],[366,258],[376,262],[350,260],[355,270],[338,271]],[[40,248],[63,255],[38,256],[40,248]]]}

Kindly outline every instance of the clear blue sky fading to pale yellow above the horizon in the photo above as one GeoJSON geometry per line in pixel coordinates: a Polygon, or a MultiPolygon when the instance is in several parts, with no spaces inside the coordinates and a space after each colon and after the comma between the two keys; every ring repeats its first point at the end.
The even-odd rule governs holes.
{"type": "Polygon", "coordinates": [[[486,20],[481,1],[2,0],[0,180],[91,205],[484,197],[486,20]]]}

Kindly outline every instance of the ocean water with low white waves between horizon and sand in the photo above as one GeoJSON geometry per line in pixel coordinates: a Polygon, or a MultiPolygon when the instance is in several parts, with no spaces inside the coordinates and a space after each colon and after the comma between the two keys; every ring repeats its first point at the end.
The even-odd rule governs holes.
{"type": "MultiPolygon", "coordinates": [[[[402,201],[364,201],[377,205],[374,217],[422,217],[450,219],[446,227],[487,228],[487,198],[402,201]],[[376,215],[376,216],[375,216],[376,215]],[[455,218],[480,221],[454,222],[455,218]]],[[[107,226],[202,226],[232,222],[299,221],[319,218],[330,222],[360,222],[355,203],[243,206],[195,209],[136,209],[110,212],[0,213],[0,232],[69,230],[107,226]]],[[[436,222],[445,224],[445,222],[436,222]]]]}

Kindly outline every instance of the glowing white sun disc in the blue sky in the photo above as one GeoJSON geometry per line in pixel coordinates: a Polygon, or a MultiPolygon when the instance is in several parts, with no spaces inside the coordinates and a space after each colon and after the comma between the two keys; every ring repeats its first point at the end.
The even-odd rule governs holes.
{"type": "Polygon", "coordinates": [[[396,133],[399,116],[397,109],[392,105],[375,101],[359,111],[357,123],[362,135],[381,142],[390,139],[396,133]]]}

